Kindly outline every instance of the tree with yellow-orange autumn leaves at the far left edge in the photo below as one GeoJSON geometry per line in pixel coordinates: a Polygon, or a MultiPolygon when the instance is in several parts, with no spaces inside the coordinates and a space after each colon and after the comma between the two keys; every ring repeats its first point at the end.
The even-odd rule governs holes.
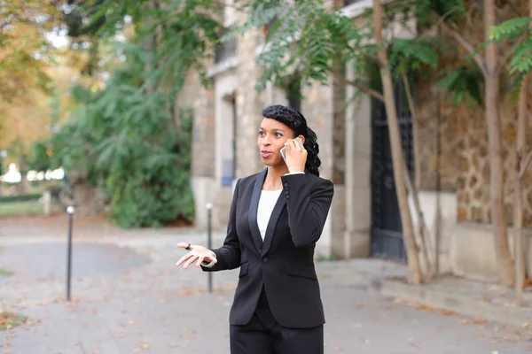
{"type": "Polygon", "coordinates": [[[45,32],[56,23],[55,15],[55,4],[48,0],[3,2],[0,12],[0,150],[11,150],[18,160],[22,192],[27,188],[27,142],[43,121],[38,116],[31,125],[37,114],[29,107],[43,108],[36,107],[35,97],[43,99],[50,89],[53,50],[45,32]]]}

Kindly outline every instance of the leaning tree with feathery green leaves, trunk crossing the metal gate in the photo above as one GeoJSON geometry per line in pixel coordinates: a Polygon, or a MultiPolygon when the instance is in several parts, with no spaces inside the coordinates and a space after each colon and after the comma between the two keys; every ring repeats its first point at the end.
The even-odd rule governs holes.
{"type": "MultiPolygon", "coordinates": [[[[424,242],[419,245],[411,222],[408,206],[406,181],[410,176],[405,173],[402,142],[398,135],[393,95],[393,81],[398,79],[397,67],[401,61],[411,61],[413,65],[403,65],[403,73],[418,73],[422,66],[436,66],[435,39],[429,35],[414,35],[413,39],[399,38],[390,34],[388,25],[398,18],[399,10],[390,14],[384,12],[380,3],[374,4],[372,22],[358,26],[353,20],[343,16],[335,9],[327,10],[323,2],[309,0],[305,2],[269,2],[267,0],[243,1],[240,3],[250,12],[250,21],[237,29],[242,33],[249,27],[261,27],[272,19],[276,24],[270,27],[269,35],[257,62],[262,65],[263,73],[259,89],[267,81],[278,81],[297,73],[301,86],[311,82],[326,84],[330,75],[347,85],[352,85],[359,92],[372,96],[385,103],[390,128],[394,176],[397,200],[403,224],[404,242],[409,261],[409,277],[413,283],[423,280],[419,265],[419,245],[426,255],[424,242]],[[386,23],[382,24],[382,20],[386,23]],[[385,31],[386,39],[381,35],[385,31]],[[389,57],[389,58],[388,58],[389,57]],[[353,65],[356,79],[347,80],[334,70],[331,63],[340,61],[343,65],[353,65]],[[372,87],[370,72],[372,65],[379,66],[379,81],[384,90],[372,87]]],[[[406,6],[406,4],[403,4],[406,6]]],[[[403,13],[401,11],[401,13],[403,13]]],[[[408,13],[408,12],[404,12],[408,13]]],[[[366,18],[367,19],[367,18],[366,18]]],[[[406,17],[402,19],[408,21],[406,17]]],[[[351,97],[348,97],[350,99],[351,97]]],[[[411,107],[412,109],[414,107],[411,107]]],[[[413,190],[413,189],[412,189],[413,190]]],[[[419,213],[419,215],[421,215],[419,213]]],[[[426,258],[428,263],[428,258],[426,258]]]]}

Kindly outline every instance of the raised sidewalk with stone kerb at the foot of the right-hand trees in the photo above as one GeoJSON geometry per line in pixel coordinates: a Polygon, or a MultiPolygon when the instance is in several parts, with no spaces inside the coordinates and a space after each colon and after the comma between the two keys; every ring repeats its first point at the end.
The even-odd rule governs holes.
{"type": "Polygon", "coordinates": [[[344,286],[369,289],[384,296],[414,302],[490,320],[506,325],[532,328],[532,288],[523,292],[523,305],[517,307],[515,290],[497,284],[441,276],[419,286],[407,284],[406,266],[379,259],[351,259],[318,266],[323,278],[334,277],[344,286]]]}

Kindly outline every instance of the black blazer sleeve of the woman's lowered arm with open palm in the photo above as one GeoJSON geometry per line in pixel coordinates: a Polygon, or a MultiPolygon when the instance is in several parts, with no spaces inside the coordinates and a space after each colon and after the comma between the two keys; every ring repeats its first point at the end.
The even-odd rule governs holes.
{"type": "MultiPolygon", "coordinates": [[[[239,180],[240,181],[240,180],[239,180]]],[[[216,259],[215,265],[211,267],[201,266],[205,272],[216,272],[227,269],[234,269],[240,266],[240,242],[239,235],[237,235],[237,201],[239,200],[239,181],[235,185],[235,191],[231,201],[231,209],[229,212],[229,224],[227,225],[227,236],[223,241],[223,246],[219,249],[213,249],[216,259]]]]}

